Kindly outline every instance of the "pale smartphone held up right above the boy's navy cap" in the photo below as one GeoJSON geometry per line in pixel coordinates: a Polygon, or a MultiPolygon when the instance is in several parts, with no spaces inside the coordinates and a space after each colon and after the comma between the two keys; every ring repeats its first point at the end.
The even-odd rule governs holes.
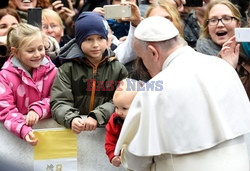
{"type": "Polygon", "coordinates": [[[131,16],[130,5],[104,5],[104,17],[106,19],[120,19],[131,16]]]}

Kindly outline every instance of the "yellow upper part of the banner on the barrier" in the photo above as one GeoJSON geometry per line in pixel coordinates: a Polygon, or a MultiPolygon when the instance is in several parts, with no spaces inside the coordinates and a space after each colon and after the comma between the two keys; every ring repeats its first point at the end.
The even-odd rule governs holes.
{"type": "Polygon", "coordinates": [[[71,129],[39,129],[34,134],[34,160],[77,157],[77,136],[71,129]]]}

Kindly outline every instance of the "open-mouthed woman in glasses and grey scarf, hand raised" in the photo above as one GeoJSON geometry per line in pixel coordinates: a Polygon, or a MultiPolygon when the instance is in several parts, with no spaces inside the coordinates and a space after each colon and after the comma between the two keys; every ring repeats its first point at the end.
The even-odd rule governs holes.
{"type": "Polygon", "coordinates": [[[198,52],[219,56],[237,71],[250,99],[250,59],[239,55],[240,45],[235,40],[234,29],[241,27],[241,14],[228,0],[211,1],[205,11],[198,52]]]}

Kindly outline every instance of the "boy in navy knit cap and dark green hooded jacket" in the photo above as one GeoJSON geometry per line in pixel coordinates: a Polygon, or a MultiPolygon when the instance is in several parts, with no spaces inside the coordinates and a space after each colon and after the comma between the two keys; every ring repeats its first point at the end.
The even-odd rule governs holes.
{"type": "Polygon", "coordinates": [[[75,23],[75,39],[59,54],[63,65],[52,86],[52,116],[77,134],[107,123],[114,111],[115,87],[127,76],[107,39],[106,20],[98,13],[83,12],[75,23]]]}

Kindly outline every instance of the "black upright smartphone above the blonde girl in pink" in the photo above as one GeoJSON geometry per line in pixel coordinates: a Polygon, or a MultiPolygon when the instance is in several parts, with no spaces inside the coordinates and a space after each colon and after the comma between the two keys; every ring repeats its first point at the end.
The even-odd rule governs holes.
{"type": "Polygon", "coordinates": [[[42,8],[28,9],[28,24],[41,28],[42,26],[42,8]]]}

